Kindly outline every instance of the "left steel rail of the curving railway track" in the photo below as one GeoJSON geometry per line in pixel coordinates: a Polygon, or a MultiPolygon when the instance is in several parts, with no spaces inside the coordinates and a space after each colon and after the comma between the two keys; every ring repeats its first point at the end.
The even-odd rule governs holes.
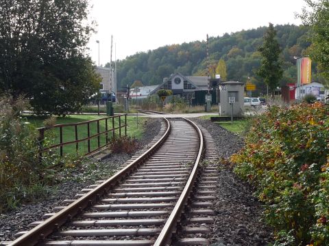
{"type": "Polygon", "coordinates": [[[125,178],[125,176],[133,172],[134,169],[144,163],[144,161],[148,159],[151,154],[153,154],[154,152],[156,152],[156,150],[158,150],[158,148],[160,148],[162,143],[167,139],[169,133],[171,132],[171,125],[169,123],[169,120],[167,120],[166,118],[164,118],[164,120],[167,123],[167,131],[153,146],[151,146],[151,148],[149,148],[149,150],[141,154],[141,156],[139,156],[135,161],[132,161],[132,163],[121,169],[119,172],[117,172],[117,174],[114,174],[114,176],[108,178],[108,180],[99,184],[99,186],[93,189],[93,191],[89,191],[88,193],[86,193],[86,195],[80,197],[80,199],[76,200],[69,206],[66,206],[65,208],[60,210],[60,212],[56,213],[56,215],[53,215],[49,219],[40,223],[40,225],[36,226],[32,230],[29,230],[29,232],[23,234],[19,238],[16,238],[16,240],[13,241],[11,245],[33,246],[37,243],[40,243],[40,241],[43,241],[46,236],[48,236],[55,230],[58,230],[60,226],[71,220],[75,215],[81,213],[84,208],[91,206],[97,200],[99,200],[101,195],[107,193],[114,186],[114,184],[117,184],[120,180],[125,178]]]}

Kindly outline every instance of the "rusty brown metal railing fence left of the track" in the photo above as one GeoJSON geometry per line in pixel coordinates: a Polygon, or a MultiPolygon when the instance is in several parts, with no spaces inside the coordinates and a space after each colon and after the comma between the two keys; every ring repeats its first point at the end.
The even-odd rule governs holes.
{"type": "Polygon", "coordinates": [[[41,127],[38,128],[37,130],[39,131],[39,137],[38,137],[38,141],[39,141],[39,155],[40,158],[42,157],[42,152],[45,152],[47,150],[51,150],[54,148],[60,148],[60,156],[63,156],[64,151],[63,151],[63,147],[67,146],[69,144],[75,144],[75,151],[78,152],[79,151],[79,143],[82,141],[87,141],[87,145],[88,145],[88,152],[86,152],[86,154],[90,154],[92,152],[96,152],[97,150],[100,150],[101,148],[105,147],[108,145],[108,133],[112,132],[112,137],[114,137],[115,135],[115,131],[117,129],[119,129],[119,137],[121,137],[121,128],[125,128],[125,135],[127,135],[127,115],[126,114],[121,114],[121,115],[114,115],[114,116],[110,116],[110,117],[106,117],[106,118],[100,118],[97,120],[88,120],[85,122],[77,122],[77,123],[69,123],[69,124],[56,124],[54,126],[52,126],[51,128],[48,127],[41,127]],[[119,126],[115,127],[114,125],[114,119],[115,118],[119,118],[119,126]],[[124,124],[121,124],[121,120],[124,120],[124,124]],[[108,123],[110,122],[109,119],[112,119],[112,128],[109,128],[108,123]],[[100,122],[105,122],[105,131],[101,131],[100,130],[100,122]],[[96,122],[97,124],[97,133],[90,135],[90,124],[96,122]],[[81,139],[79,139],[79,134],[77,131],[77,126],[82,126],[82,125],[86,125],[87,127],[87,137],[83,137],[81,139]],[[63,128],[65,127],[69,127],[69,126],[73,126],[74,127],[74,131],[75,131],[75,140],[71,140],[71,141],[63,141],[63,128]],[[57,144],[53,144],[52,146],[47,146],[44,148],[43,143],[45,141],[45,132],[46,131],[53,131],[54,128],[59,128],[59,140],[60,143],[57,144]],[[106,137],[105,140],[105,144],[101,145],[101,135],[106,137]],[[91,145],[90,145],[90,140],[97,138],[97,148],[92,149],[91,145]]]}

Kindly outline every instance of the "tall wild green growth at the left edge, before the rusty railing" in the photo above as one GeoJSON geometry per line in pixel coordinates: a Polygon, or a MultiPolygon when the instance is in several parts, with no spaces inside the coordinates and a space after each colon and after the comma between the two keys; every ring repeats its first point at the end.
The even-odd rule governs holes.
{"type": "Polygon", "coordinates": [[[27,105],[21,98],[0,98],[0,213],[44,194],[53,182],[46,167],[58,159],[39,161],[37,131],[19,115],[27,105]]]}

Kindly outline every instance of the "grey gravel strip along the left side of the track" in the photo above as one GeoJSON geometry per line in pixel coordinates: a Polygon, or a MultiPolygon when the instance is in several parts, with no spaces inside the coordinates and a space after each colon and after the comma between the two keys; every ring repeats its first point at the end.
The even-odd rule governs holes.
{"type": "MultiPolygon", "coordinates": [[[[147,120],[144,135],[139,141],[141,148],[146,146],[158,135],[161,124],[160,120],[152,118],[147,120]]],[[[0,241],[14,240],[14,234],[29,230],[27,225],[34,221],[42,220],[42,215],[51,213],[52,208],[59,206],[65,199],[73,199],[74,195],[80,193],[81,189],[95,184],[95,180],[109,178],[117,171],[121,164],[128,161],[133,154],[111,154],[108,159],[88,162],[67,174],[64,182],[51,187],[51,192],[42,200],[23,204],[16,210],[0,215],[0,241]]]]}

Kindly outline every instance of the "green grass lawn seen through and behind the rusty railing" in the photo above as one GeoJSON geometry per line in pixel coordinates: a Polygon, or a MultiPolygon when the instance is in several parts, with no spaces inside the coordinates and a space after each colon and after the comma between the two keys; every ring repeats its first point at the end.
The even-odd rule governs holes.
{"type": "MultiPolygon", "coordinates": [[[[102,115],[69,115],[64,118],[56,118],[56,124],[71,124],[71,123],[77,123],[77,122],[85,122],[88,120],[97,120],[99,118],[106,118],[102,115]]],[[[36,116],[26,116],[27,122],[30,122],[34,126],[42,127],[44,126],[45,118],[36,117],[36,116]]],[[[127,135],[130,137],[136,137],[137,139],[140,139],[143,135],[143,124],[145,122],[145,118],[138,118],[138,128],[137,128],[137,122],[135,116],[127,116],[127,135]]],[[[125,124],[125,118],[121,117],[121,126],[125,124]]],[[[119,118],[114,119],[114,127],[119,126],[119,118]]],[[[97,122],[90,123],[90,136],[97,134],[97,122]]],[[[112,119],[108,119],[108,129],[112,128],[112,119]]],[[[64,126],[62,128],[63,130],[63,142],[66,141],[73,141],[75,140],[75,127],[74,126],[64,126]]],[[[99,122],[99,131],[105,131],[106,130],[106,124],[105,120],[102,120],[99,122]]],[[[114,131],[115,136],[119,136],[119,129],[116,129],[114,131]]],[[[125,129],[121,128],[121,136],[125,135],[125,129]]],[[[87,125],[80,125],[77,126],[77,137],[78,139],[83,139],[88,136],[87,131],[87,125]]],[[[108,133],[108,138],[112,137],[113,133],[108,133]]],[[[45,132],[45,137],[47,138],[47,145],[53,145],[60,143],[60,128],[53,128],[51,130],[47,130],[45,132]]],[[[103,146],[106,143],[106,136],[101,135],[99,137],[100,146],[103,146]]],[[[95,150],[98,146],[98,139],[97,137],[94,137],[93,139],[90,139],[90,150],[95,150]]],[[[88,142],[87,141],[81,141],[78,143],[78,150],[80,154],[85,154],[88,152],[88,142]]],[[[58,148],[59,152],[59,148],[58,148]]],[[[76,144],[72,143],[67,146],[63,146],[63,152],[64,154],[67,153],[75,153],[76,152],[76,144]]]]}

